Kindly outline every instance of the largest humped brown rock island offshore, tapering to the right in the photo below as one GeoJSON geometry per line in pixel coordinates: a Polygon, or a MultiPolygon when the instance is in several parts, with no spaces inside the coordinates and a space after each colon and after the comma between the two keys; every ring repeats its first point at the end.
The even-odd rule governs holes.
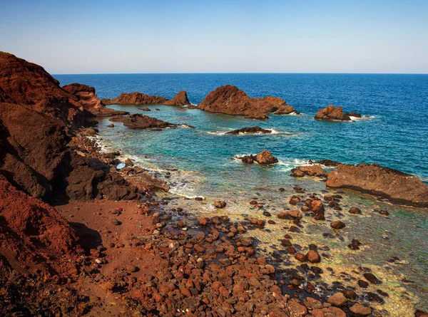
{"type": "Polygon", "coordinates": [[[295,108],[276,97],[250,98],[238,87],[223,85],[208,93],[198,108],[211,113],[243,115],[245,118],[265,120],[268,113],[297,114],[295,108]]]}

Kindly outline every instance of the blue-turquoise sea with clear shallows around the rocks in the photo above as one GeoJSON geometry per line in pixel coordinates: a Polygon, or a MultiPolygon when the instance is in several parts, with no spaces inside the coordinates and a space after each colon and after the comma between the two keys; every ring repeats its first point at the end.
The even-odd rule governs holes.
{"type": "MultiPolygon", "coordinates": [[[[54,77],[61,85],[91,85],[99,98],[116,98],[134,91],[173,98],[180,90],[186,90],[194,105],[220,85],[230,84],[253,98],[265,95],[283,98],[302,113],[269,115],[268,120],[257,121],[185,107],[148,105],[151,111],[145,112],[136,105],[109,105],[182,125],[149,131],[130,130],[115,123],[112,129],[107,128],[108,118],[101,118],[98,141],[108,150],[120,150],[123,159],[131,157],[153,175],[165,179],[171,186],[170,194],[203,197],[202,204],[193,199],[180,202],[195,214],[215,214],[217,211],[210,202],[224,199],[228,207],[222,212],[231,218],[261,216],[260,210],[248,204],[256,198],[276,221],[275,213],[290,207],[287,202],[293,186],[303,187],[307,192],[337,194],[337,190],[326,188],[322,180],[290,177],[293,167],[323,159],[348,164],[375,162],[417,175],[428,183],[428,75],[174,73],[54,77]],[[345,112],[367,117],[353,122],[314,120],[317,110],[327,105],[342,105],[345,112]],[[272,133],[226,134],[254,125],[272,133]],[[278,164],[243,165],[239,160],[243,155],[262,150],[272,152],[278,164]],[[280,187],[285,192],[280,192],[280,187]]],[[[383,283],[370,286],[370,291],[379,293],[380,289],[389,294],[382,297],[385,302],[382,305],[370,302],[382,316],[413,316],[413,308],[428,309],[428,210],[400,207],[355,192],[340,191],[340,194],[344,210],[327,210],[326,217],[327,221],[341,219],[347,227],[340,234],[335,232],[335,239],[331,239],[325,235],[330,228],[304,218],[304,229],[293,243],[328,246],[330,255],[320,264],[329,272],[324,281],[355,288],[361,298],[370,296],[367,297],[367,290],[358,289],[356,279],[360,279],[362,269],[371,269],[383,283]],[[362,209],[362,215],[348,214],[346,209],[352,206],[362,209]],[[379,209],[387,209],[389,217],[380,215],[379,209]],[[362,248],[347,249],[350,239],[362,241],[362,248]]],[[[284,254],[280,265],[286,267],[295,260],[288,259],[277,243],[286,233],[284,225],[272,225],[258,234],[258,239],[260,249],[266,254],[284,254]]]]}

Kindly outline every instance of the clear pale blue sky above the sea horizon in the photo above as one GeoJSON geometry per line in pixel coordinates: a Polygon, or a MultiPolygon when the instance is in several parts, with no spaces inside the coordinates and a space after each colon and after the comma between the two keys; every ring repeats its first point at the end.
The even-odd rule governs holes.
{"type": "Polygon", "coordinates": [[[428,73],[428,0],[7,1],[49,73],[428,73]]]}

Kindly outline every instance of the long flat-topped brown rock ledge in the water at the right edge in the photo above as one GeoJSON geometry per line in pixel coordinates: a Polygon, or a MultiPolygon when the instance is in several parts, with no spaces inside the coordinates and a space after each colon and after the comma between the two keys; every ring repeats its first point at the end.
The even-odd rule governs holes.
{"type": "Polygon", "coordinates": [[[396,204],[428,207],[428,186],[418,177],[374,163],[338,165],[328,175],[326,185],[373,194],[396,204]]]}

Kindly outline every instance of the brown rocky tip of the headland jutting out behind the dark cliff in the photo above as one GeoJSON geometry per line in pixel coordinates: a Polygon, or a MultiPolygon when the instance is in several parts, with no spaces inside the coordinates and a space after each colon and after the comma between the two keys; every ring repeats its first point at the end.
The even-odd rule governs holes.
{"type": "Polygon", "coordinates": [[[74,95],[77,99],[74,103],[86,110],[86,116],[109,117],[111,115],[127,115],[126,111],[118,111],[106,108],[106,105],[98,98],[95,88],[81,83],[71,83],[63,86],[63,89],[74,95]]]}

